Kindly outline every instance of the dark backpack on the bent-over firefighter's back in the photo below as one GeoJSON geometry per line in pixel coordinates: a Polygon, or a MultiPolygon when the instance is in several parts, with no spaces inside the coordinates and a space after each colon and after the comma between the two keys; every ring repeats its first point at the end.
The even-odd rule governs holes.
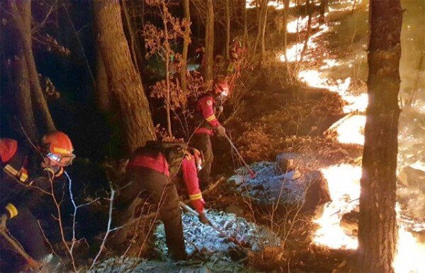
{"type": "Polygon", "coordinates": [[[176,175],[181,168],[187,144],[184,142],[147,141],[145,148],[164,154],[169,165],[170,177],[176,175]]]}

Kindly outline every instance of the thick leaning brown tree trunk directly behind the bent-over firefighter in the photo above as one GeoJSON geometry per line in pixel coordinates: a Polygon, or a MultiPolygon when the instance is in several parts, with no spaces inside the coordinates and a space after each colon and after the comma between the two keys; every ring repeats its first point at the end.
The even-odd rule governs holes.
{"type": "Polygon", "coordinates": [[[94,1],[97,46],[123,117],[129,152],[156,139],[142,80],[132,64],[118,1],[94,1]]]}

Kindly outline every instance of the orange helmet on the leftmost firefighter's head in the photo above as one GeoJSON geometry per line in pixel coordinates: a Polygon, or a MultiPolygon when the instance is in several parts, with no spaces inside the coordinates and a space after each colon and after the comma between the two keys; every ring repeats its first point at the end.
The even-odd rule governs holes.
{"type": "Polygon", "coordinates": [[[53,132],[42,137],[42,149],[44,155],[51,161],[65,167],[71,165],[75,158],[74,147],[71,139],[63,132],[53,132]]]}

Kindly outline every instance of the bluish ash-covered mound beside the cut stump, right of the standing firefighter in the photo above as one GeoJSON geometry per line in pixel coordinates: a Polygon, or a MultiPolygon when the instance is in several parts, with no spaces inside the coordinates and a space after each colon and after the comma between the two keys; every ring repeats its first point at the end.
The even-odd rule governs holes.
{"type": "Polygon", "coordinates": [[[229,178],[229,182],[236,184],[237,189],[245,196],[251,197],[258,203],[290,203],[296,204],[305,198],[306,183],[298,170],[277,174],[276,163],[262,161],[254,163],[251,170],[256,173],[251,178],[246,168],[239,168],[229,178]]]}

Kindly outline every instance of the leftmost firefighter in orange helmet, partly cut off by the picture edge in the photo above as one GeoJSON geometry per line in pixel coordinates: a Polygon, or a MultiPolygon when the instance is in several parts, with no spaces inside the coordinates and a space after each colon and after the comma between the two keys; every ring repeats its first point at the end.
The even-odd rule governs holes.
{"type": "MultiPolygon", "coordinates": [[[[50,249],[45,245],[31,207],[36,206],[41,190],[49,191],[50,179],[62,175],[64,167],[70,165],[75,156],[69,137],[62,132],[43,136],[38,150],[25,144],[15,139],[0,139],[0,214],[2,222],[6,221],[3,231],[7,228],[18,241],[30,256],[26,258],[27,264],[34,268],[47,261],[50,249]],[[43,176],[45,179],[40,178],[43,176]]],[[[1,269],[19,271],[22,262],[5,254],[16,249],[8,243],[3,231],[0,235],[1,269]]]]}

